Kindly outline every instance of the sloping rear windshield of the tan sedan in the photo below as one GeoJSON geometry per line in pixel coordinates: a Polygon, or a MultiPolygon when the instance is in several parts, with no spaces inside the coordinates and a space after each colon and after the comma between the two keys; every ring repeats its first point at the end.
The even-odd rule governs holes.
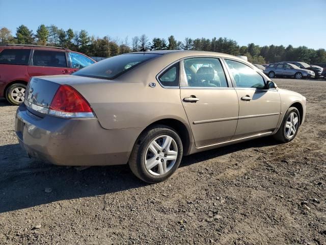
{"type": "Polygon", "coordinates": [[[124,72],[159,56],[158,54],[125,54],[114,56],[87,66],[73,75],[91,78],[115,79],[124,72]]]}

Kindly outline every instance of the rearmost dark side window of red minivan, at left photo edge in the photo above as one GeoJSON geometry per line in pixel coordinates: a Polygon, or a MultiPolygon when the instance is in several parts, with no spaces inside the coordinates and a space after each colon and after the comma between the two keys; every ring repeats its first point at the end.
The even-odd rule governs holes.
{"type": "Polygon", "coordinates": [[[31,50],[3,50],[0,53],[0,64],[28,65],[31,50]]]}

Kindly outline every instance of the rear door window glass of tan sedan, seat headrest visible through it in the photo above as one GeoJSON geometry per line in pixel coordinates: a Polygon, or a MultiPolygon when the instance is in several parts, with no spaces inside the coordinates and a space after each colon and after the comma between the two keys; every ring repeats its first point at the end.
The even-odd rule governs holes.
{"type": "Polygon", "coordinates": [[[194,58],[183,61],[189,87],[227,87],[219,59],[194,58]]]}

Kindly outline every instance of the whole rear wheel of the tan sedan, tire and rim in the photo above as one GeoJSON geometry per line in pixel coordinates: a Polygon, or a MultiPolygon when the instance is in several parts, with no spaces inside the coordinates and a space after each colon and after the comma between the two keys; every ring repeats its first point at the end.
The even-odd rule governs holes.
{"type": "Polygon", "coordinates": [[[129,157],[132,173],[147,183],[168,179],[179,167],[182,142],[174,129],[156,125],[144,131],[129,157]]]}

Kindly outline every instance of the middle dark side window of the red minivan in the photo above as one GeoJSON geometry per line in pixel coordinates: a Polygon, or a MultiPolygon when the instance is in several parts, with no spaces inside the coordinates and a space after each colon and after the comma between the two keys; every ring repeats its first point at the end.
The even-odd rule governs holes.
{"type": "Polygon", "coordinates": [[[34,50],[34,66],[67,67],[65,52],[34,50]]]}

